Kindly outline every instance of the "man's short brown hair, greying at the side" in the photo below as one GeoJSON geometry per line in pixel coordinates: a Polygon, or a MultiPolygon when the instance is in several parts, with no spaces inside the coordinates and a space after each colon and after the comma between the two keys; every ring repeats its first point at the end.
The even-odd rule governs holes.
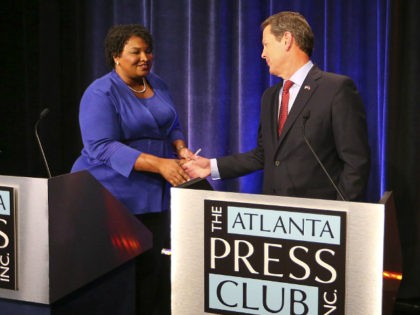
{"type": "Polygon", "coordinates": [[[314,33],[303,15],[298,12],[279,12],[262,22],[261,30],[268,25],[271,26],[271,33],[279,40],[285,32],[292,33],[299,48],[311,57],[314,48],[314,33]]]}

